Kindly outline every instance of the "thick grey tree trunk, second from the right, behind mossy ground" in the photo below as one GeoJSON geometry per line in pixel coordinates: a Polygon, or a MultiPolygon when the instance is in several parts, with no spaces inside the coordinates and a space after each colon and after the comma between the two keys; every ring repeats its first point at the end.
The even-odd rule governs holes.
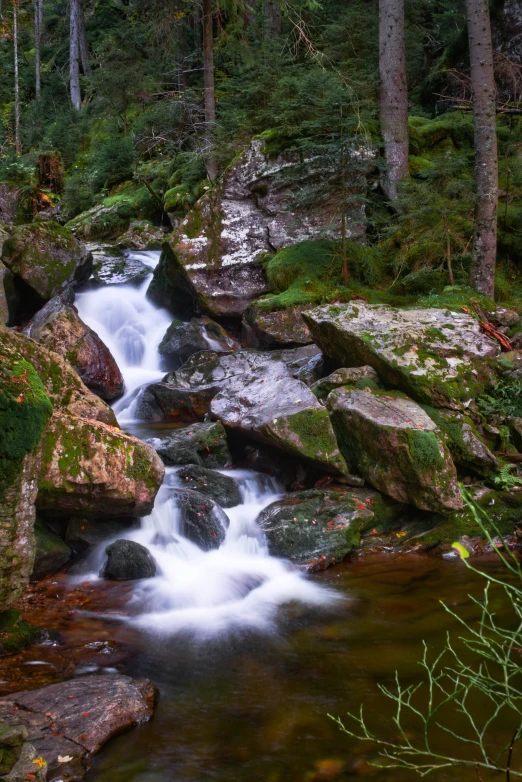
{"type": "Polygon", "coordinates": [[[379,2],[380,120],[386,171],[382,187],[391,201],[408,176],[408,88],[404,51],[404,0],[379,2]]]}

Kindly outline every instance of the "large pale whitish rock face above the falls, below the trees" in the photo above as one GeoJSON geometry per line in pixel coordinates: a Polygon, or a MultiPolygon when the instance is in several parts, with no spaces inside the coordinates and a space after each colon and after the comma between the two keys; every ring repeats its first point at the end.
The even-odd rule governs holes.
{"type": "MultiPolygon", "coordinates": [[[[365,187],[361,160],[369,157],[361,148],[354,151],[353,168],[348,163],[352,193],[365,187]]],[[[165,245],[149,295],[179,317],[198,311],[240,317],[267,291],[261,265],[266,253],[306,239],[341,236],[335,196],[341,197],[340,186],[338,161],[303,160],[298,153],[270,159],[265,141],[254,139],[165,245]],[[314,188],[310,203],[296,213],[297,193],[314,188]]],[[[357,199],[350,204],[348,235],[357,238],[365,231],[364,206],[357,199]]]]}

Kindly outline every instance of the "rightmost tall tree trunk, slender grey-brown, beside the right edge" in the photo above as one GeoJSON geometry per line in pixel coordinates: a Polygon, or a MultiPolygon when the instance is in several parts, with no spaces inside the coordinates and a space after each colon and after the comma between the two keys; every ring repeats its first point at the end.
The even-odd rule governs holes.
{"type": "Polygon", "coordinates": [[[496,89],[488,0],[466,0],[473,124],[475,128],[475,221],[470,285],[495,295],[498,154],[496,89]]]}

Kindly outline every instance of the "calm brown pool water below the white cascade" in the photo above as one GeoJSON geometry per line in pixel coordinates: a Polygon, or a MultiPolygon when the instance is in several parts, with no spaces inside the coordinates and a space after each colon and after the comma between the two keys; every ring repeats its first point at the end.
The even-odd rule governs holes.
{"type": "MultiPolygon", "coordinates": [[[[480,564],[498,567],[494,561],[480,564]]],[[[63,645],[33,648],[23,662],[48,661],[56,670],[45,674],[22,666],[31,670],[24,684],[27,676],[32,687],[46,676],[70,676],[77,665],[116,667],[159,687],[153,721],[107,745],[86,782],[416,779],[404,771],[370,769],[368,748],[343,736],[327,714],[342,715],[364,702],[373,725],[393,736],[391,709],[377,684],[391,685],[396,669],[405,683],[414,681],[422,640],[435,652],[446,631],[457,630],[440,601],[473,622],[477,612],[467,594],[479,595],[483,582],[461,562],[414,555],[367,557],[314,579],[347,600],[332,612],[288,607],[277,636],[241,633],[198,645],[179,636],[150,639],[110,615],[96,616],[124,610],[128,585],[79,585],[72,593],[63,578],[55,578],[57,584],[41,587],[55,590],[55,603],[36,600],[29,608],[35,620],[61,633],[63,645]],[[93,642],[106,646],[86,649],[93,642]]],[[[500,593],[497,602],[501,611],[500,593]]],[[[15,661],[2,666],[4,691],[15,684],[9,665],[15,661]]],[[[457,724],[455,715],[450,719],[457,724]]],[[[511,725],[499,727],[499,741],[506,732],[511,725]]],[[[522,770],[522,757],[514,767],[522,770]]],[[[494,778],[483,774],[484,782],[494,778]]],[[[471,782],[477,776],[456,769],[429,779],[471,782]]]]}

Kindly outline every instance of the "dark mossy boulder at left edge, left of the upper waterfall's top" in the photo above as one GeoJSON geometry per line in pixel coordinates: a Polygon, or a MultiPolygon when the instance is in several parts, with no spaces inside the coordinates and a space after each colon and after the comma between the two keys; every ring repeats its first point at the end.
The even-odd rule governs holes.
{"type": "Polygon", "coordinates": [[[2,248],[2,261],[23,286],[23,312],[34,314],[57,295],[64,283],[85,282],[92,256],[67,228],[53,221],[35,220],[13,229],[2,248]],[[28,294],[33,298],[29,302],[28,294]]]}

